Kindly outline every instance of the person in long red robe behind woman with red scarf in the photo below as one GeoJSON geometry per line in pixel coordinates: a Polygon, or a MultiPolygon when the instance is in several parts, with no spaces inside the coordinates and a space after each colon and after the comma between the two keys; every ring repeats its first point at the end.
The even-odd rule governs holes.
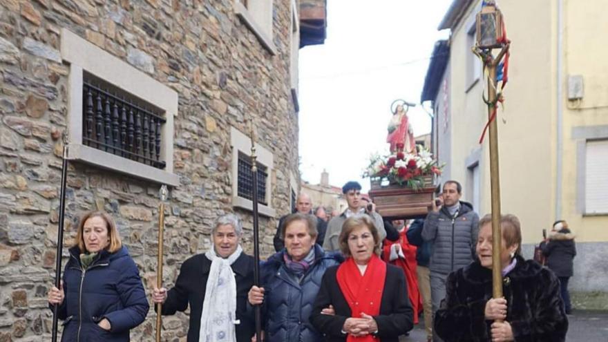
{"type": "Polygon", "coordinates": [[[393,221],[395,227],[402,227],[399,231],[399,240],[392,242],[385,240],[383,248],[383,260],[386,260],[392,265],[401,267],[403,273],[406,274],[408,283],[408,296],[414,310],[414,324],[418,324],[418,314],[422,311],[422,296],[418,289],[418,276],[416,273],[416,250],[415,245],[408,243],[406,231],[408,227],[403,225],[403,221],[393,221]]]}

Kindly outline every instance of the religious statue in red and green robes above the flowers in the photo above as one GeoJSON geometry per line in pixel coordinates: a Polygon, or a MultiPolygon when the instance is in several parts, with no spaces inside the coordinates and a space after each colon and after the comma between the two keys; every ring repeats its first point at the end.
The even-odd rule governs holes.
{"type": "Polygon", "coordinates": [[[416,154],[416,141],[414,140],[414,130],[408,118],[410,104],[402,99],[398,99],[391,105],[392,118],[388,123],[388,135],[386,142],[390,143],[390,152],[405,152],[416,154]],[[396,108],[393,106],[397,104],[396,108]]]}

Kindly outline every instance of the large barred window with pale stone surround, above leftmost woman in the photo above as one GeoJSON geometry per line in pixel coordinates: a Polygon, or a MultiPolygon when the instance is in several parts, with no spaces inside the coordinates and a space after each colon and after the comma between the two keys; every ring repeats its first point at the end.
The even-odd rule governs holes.
{"type": "Polygon", "coordinates": [[[68,158],[180,185],[173,173],[178,93],[67,28],[61,28],[61,60],[69,67],[68,158]]]}

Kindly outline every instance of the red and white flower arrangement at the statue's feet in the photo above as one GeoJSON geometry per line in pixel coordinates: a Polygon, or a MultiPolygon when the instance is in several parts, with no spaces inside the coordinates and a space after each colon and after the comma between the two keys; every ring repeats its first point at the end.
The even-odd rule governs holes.
{"type": "Polygon", "coordinates": [[[390,184],[405,185],[415,190],[424,187],[425,178],[441,175],[441,167],[437,166],[437,161],[433,160],[428,150],[422,146],[417,146],[417,149],[417,154],[398,149],[392,155],[372,155],[363,177],[388,180],[390,184]]]}

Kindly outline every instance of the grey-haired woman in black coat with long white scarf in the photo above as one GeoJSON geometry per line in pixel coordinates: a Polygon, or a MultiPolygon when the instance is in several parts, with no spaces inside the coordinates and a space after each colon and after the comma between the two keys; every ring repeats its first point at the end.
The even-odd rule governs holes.
{"type": "Polygon", "coordinates": [[[211,232],[213,247],[184,261],[175,286],[155,288],[154,303],[162,314],[190,306],[188,342],[249,342],[255,332],[247,311],[247,292],[254,283],[254,258],[243,253],[243,225],[234,214],[221,216],[211,232]]]}

